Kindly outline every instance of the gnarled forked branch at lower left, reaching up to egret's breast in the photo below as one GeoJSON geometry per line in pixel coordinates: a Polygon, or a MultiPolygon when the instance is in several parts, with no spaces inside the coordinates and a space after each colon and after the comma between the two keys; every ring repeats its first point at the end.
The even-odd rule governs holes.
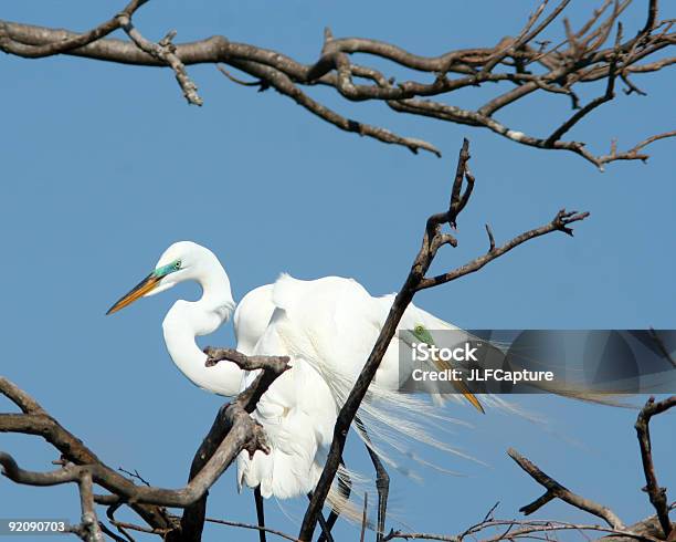
{"type": "Polygon", "coordinates": [[[2,473],[17,483],[31,486],[78,483],[82,503],[86,509],[83,508],[83,523],[76,529],[76,533],[86,540],[98,540],[101,536],[101,527],[93,509],[94,502],[110,507],[108,519],[126,538],[129,536],[124,527],[115,521],[113,515],[123,503],[133,507],[150,525],[152,532],[161,533],[167,540],[200,540],[207,490],[240,451],[247,450],[250,455],[256,450],[268,451],[262,427],[249,414],[274,379],[287,369],[287,358],[284,357],[256,356],[249,359],[235,351],[214,352],[220,356],[219,359],[230,356],[243,367],[263,371],[232,404],[221,407],[210,432],[196,454],[190,479],[184,488],[170,490],[148,484],[136,486],[104,465],[82,441],[63,429],[34,399],[7,378],[0,378],[0,393],[17,404],[24,414],[0,414],[0,431],[41,435],[62,451],[67,460],[59,461],[62,468],[54,471],[35,472],[20,468],[9,454],[0,451],[2,473]],[[103,487],[112,494],[93,494],[92,483],[103,487]],[[160,507],[186,509],[180,524],[160,507]]]}

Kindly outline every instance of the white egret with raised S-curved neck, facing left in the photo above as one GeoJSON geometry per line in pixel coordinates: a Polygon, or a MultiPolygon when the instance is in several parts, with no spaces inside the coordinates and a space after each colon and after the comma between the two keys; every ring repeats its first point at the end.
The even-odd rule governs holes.
{"type": "MultiPolygon", "coordinates": [[[[235,395],[255,375],[243,375],[229,363],[205,367],[207,355],[196,343],[196,336],[215,331],[235,308],[228,274],[209,249],[190,241],[173,243],[160,257],[155,270],[107,314],[188,280],[200,283],[202,296],[194,302],[179,300],[167,313],[162,330],[169,354],[178,368],[199,387],[219,395],[235,395]]],[[[246,454],[240,455],[240,487],[254,488],[256,497],[279,499],[314,490],[331,442],[338,409],[368,358],[392,301],[392,295],[371,296],[351,279],[327,277],[300,281],[285,274],[242,300],[234,315],[237,350],[247,355],[288,355],[292,369],[273,383],[252,414],[267,434],[271,452],[256,452],[252,459],[246,454]]],[[[400,329],[416,326],[457,330],[411,305],[400,329]]],[[[405,371],[400,371],[400,341],[392,340],[360,409],[357,429],[369,447],[377,470],[380,451],[376,451],[366,430],[380,435],[378,424],[388,427],[390,432],[397,430],[434,444],[415,423],[405,423],[404,418],[389,411],[389,408],[399,408],[413,416],[430,413],[419,399],[397,393],[409,377],[405,371]]],[[[482,409],[468,390],[462,392],[482,409]]],[[[397,438],[382,436],[401,450],[397,438]]],[[[380,482],[383,473],[380,466],[380,482]]],[[[381,484],[378,525],[381,531],[384,499],[380,490],[381,484]]],[[[330,492],[329,503],[340,509],[340,491],[330,492]]]]}

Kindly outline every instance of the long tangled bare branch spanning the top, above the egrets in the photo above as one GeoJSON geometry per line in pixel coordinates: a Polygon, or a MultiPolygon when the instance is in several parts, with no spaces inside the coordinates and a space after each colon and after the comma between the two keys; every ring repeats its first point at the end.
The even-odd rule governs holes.
{"type": "MultiPolygon", "coordinates": [[[[281,52],[232,42],[222,35],[173,45],[173,34],[169,34],[159,44],[151,43],[142,38],[130,22],[134,11],[142,3],[145,1],[141,0],[129,3],[109,21],[83,34],[0,21],[0,49],[23,58],[71,54],[142,66],[170,66],[184,96],[190,103],[198,105],[201,104],[201,98],[197,95],[197,86],[188,77],[184,67],[198,63],[228,64],[257,81],[245,83],[246,85],[257,86],[260,90],[273,87],[342,131],[404,146],[412,152],[423,149],[436,155],[440,155],[439,149],[427,142],[403,137],[384,127],[349,119],[310,97],[300,87],[329,86],[348,101],[383,102],[399,113],[487,128],[521,145],[578,154],[600,169],[615,160],[645,160],[647,155],[640,150],[651,143],[675,135],[674,132],[665,132],[646,138],[630,150],[617,152],[613,147],[610,154],[602,156],[592,154],[584,143],[561,138],[596,107],[614,98],[614,82],[617,76],[627,85],[627,92],[640,95],[643,91],[631,81],[631,76],[656,72],[676,62],[675,56],[652,60],[676,44],[676,33],[670,31],[673,21],[658,19],[656,0],[647,2],[646,22],[635,37],[622,40],[619,32],[615,43],[605,48],[612,29],[620,28],[620,17],[632,0],[614,2],[610,12],[608,8],[612,2],[604,0],[578,30],[564,20],[566,38],[553,40],[558,43],[551,48],[547,45],[552,40],[536,40],[540,39],[543,32],[551,30],[554,21],[566,13],[570,3],[568,0],[559,2],[549,12],[548,1],[542,1],[516,38],[504,38],[493,46],[461,49],[437,56],[416,55],[395,44],[378,40],[335,38],[327,29],[319,58],[309,65],[281,52]],[[120,28],[127,32],[130,42],[106,38],[120,28]],[[384,60],[412,72],[432,74],[434,81],[412,79],[397,82],[379,70],[352,63],[355,54],[384,60]],[[606,81],[605,93],[580,107],[575,88],[580,84],[601,80],[606,81]],[[514,87],[498,93],[476,110],[429,100],[487,83],[507,83],[514,87]],[[551,133],[546,137],[526,134],[494,118],[500,110],[535,92],[569,96],[577,112],[558,128],[550,128],[551,133]]],[[[236,84],[243,83],[228,71],[224,71],[224,74],[236,84]]]]}

